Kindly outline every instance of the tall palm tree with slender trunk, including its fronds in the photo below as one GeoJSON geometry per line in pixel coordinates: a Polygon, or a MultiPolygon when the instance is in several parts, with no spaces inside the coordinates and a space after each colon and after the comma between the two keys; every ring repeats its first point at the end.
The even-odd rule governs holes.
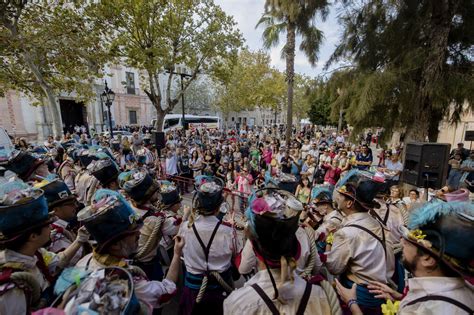
{"type": "Polygon", "coordinates": [[[295,77],[296,36],[301,36],[299,49],[314,66],[318,59],[323,33],[315,26],[315,16],[320,13],[323,20],[329,13],[327,0],[266,0],[265,13],[257,23],[263,25],[263,45],[266,49],[277,46],[280,35],[286,32],[286,43],[282,58],[286,59],[287,128],[286,143],[290,144],[293,122],[293,84],[295,77]]]}

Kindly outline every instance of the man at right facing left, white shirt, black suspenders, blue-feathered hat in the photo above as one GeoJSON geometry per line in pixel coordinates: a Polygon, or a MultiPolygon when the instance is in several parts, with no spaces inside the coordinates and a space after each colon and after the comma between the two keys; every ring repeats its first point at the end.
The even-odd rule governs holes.
{"type": "Polygon", "coordinates": [[[346,287],[357,286],[357,303],[364,313],[380,314],[377,299],[366,288],[369,281],[389,283],[394,273],[394,254],[388,232],[369,212],[379,206],[374,197],[384,186],[372,173],[352,170],[337,183],[333,200],[344,217],[341,228],[328,241],[326,267],[340,275],[346,287]]]}

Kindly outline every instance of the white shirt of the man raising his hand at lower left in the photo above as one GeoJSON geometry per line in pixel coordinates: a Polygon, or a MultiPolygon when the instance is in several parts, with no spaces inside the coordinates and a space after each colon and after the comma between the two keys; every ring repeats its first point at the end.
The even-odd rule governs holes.
{"type": "MultiPolygon", "coordinates": [[[[90,270],[97,270],[100,268],[107,267],[100,264],[91,256],[92,253],[84,256],[76,264],[76,267],[85,268],[86,266],[88,266],[88,269],[90,270]]],[[[133,283],[135,285],[135,294],[137,298],[140,301],[144,301],[150,304],[153,308],[159,308],[161,306],[160,297],[162,297],[163,295],[173,295],[176,293],[176,284],[168,279],[164,279],[162,282],[160,282],[148,281],[142,278],[134,277],[133,280],[133,283]]]]}

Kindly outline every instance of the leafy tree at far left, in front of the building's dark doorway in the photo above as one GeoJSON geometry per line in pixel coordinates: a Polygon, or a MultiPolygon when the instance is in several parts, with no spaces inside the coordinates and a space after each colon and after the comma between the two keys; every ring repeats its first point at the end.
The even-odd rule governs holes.
{"type": "Polygon", "coordinates": [[[14,89],[47,106],[62,135],[60,93],[87,101],[107,60],[103,33],[84,19],[85,2],[0,2],[0,92],[14,89]],[[67,27],[65,27],[67,25],[67,27]]]}

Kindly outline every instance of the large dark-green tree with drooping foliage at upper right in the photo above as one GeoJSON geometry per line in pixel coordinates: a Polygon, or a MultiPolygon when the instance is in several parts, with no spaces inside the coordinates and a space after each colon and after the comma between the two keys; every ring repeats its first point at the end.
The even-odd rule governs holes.
{"type": "Polygon", "coordinates": [[[474,108],[474,2],[344,1],[342,42],[331,62],[355,65],[340,82],[356,129],[406,131],[436,141],[440,121],[474,108]],[[348,76],[348,74],[350,74],[348,76]]]}

